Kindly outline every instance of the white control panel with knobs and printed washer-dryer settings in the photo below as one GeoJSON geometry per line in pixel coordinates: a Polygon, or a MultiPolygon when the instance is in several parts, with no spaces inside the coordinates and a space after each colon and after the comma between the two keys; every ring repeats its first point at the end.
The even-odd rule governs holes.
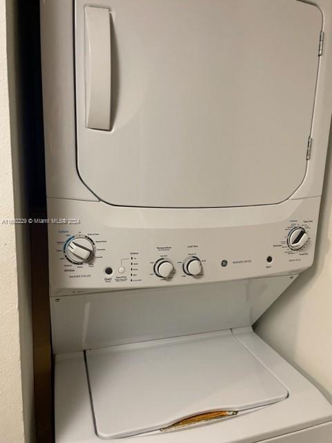
{"type": "Polygon", "coordinates": [[[299,273],[313,262],[320,199],[286,201],[270,212],[264,207],[220,208],[213,211],[219,211],[221,226],[212,218],[208,223],[213,226],[190,228],[181,217],[178,223],[173,217],[169,227],[166,220],[165,228],[140,226],[135,208],[130,208],[132,219],[130,214],[122,219],[117,208],[100,202],[50,203],[66,221],[48,226],[50,282],[53,293],[61,295],[299,273]],[[98,215],[100,210],[105,215],[98,215]],[[106,216],[109,211],[114,226],[106,216]],[[227,221],[226,215],[240,212],[247,223],[246,217],[238,218],[237,225],[227,221]],[[68,221],[73,219],[77,224],[68,221]],[[129,222],[129,227],[119,226],[129,222]]]}

